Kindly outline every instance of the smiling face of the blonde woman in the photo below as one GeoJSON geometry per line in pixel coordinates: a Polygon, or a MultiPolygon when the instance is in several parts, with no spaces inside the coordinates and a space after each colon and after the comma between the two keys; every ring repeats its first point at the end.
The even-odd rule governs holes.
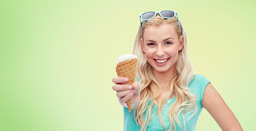
{"type": "Polygon", "coordinates": [[[175,72],[178,51],[183,43],[179,42],[174,26],[164,23],[158,27],[146,27],[141,46],[154,73],[175,72]]]}

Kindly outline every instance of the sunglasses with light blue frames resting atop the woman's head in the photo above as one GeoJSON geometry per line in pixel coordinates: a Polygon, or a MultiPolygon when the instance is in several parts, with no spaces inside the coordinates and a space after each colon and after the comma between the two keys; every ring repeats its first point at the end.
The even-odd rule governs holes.
{"type": "MultiPolygon", "coordinates": [[[[171,10],[163,10],[163,11],[148,11],[146,13],[140,14],[140,28],[142,28],[142,21],[147,21],[152,19],[153,17],[157,16],[157,13],[163,17],[164,19],[172,19],[175,17],[175,14],[177,15],[178,19],[178,14],[176,11],[171,11],[171,10]]],[[[181,25],[180,21],[178,20],[178,26],[180,27],[180,32],[181,32],[181,25]]]]}

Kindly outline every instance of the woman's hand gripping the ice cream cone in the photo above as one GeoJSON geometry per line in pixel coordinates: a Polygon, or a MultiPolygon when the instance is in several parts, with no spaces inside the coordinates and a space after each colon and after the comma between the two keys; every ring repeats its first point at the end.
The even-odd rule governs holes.
{"type": "Polygon", "coordinates": [[[116,91],[116,96],[120,104],[127,107],[126,102],[132,98],[132,109],[135,109],[140,101],[140,85],[138,81],[134,81],[132,85],[126,85],[128,78],[117,77],[113,78],[112,82],[115,83],[112,89],[116,91]]]}

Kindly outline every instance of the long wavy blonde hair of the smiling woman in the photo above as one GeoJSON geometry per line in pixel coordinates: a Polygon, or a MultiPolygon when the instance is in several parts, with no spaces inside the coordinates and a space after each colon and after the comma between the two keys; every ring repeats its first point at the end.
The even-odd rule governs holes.
{"type": "Polygon", "coordinates": [[[168,101],[168,99],[170,99],[171,95],[174,93],[176,96],[176,100],[168,112],[168,117],[170,119],[169,130],[176,130],[175,123],[177,123],[178,126],[182,128],[181,123],[178,121],[178,115],[180,114],[182,114],[184,124],[184,129],[182,130],[186,130],[186,123],[197,112],[197,106],[195,105],[195,99],[197,99],[197,96],[194,96],[192,93],[190,93],[188,88],[188,84],[194,78],[194,74],[192,64],[190,63],[187,55],[187,36],[186,32],[183,29],[183,26],[181,25],[180,31],[180,27],[178,25],[176,17],[174,17],[173,19],[164,19],[163,17],[157,15],[153,19],[143,21],[142,28],[139,27],[138,34],[136,35],[133,53],[134,55],[138,56],[139,66],[137,68],[136,77],[139,79],[141,86],[140,102],[138,107],[134,111],[134,118],[138,126],[141,127],[141,130],[146,130],[151,118],[158,114],[160,123],[166,130],[162,118],[162,111],[164,104],[168,101]],[[160,86],[156,78],[154,78],[153,69],[151,65],[147,62],[145,53],[142,51],[140,39],[143,37],[146,27],[159,26],[163,23],[168,23],[175,27],[175,31],[179,36],[179,40],[183,41],[183,49],[178,52],[178,59],[175,63],[176,75],[172,77],[169,82],[170,92],[168,92],[162,99],[160,99],[159,103],[157,103],[157,99],[160,96],[162,87],[160,86]],[[152,99],[152,103],[147,107],[148,99],[152,99]],[[151,116],[151,109],[154,104],[157,105],[158,111],[156,114],[153,114],[153,116],[151,116]],[[146,118],[144,118],[144,112],[146,111],[146,109],[146,118]],[[187,113],[190,113],[191,115],[186,121],[184,116],[187,113]]]}

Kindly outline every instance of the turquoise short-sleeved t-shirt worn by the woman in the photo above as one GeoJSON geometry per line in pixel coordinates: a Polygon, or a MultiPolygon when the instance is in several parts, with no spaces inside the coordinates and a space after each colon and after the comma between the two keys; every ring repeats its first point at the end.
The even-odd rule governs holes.
{"type": "MultiPolygon", "coordinates": [[[[186,129],[187,130],[195,130],[195,125],[197,124],[198,121],[198,117],[203,109],[202,106],[202,99],[203,99],[203,95],[204,95],[204,91],[205,91],[205,87],[207,84],[209,84],[209,80],[207,80],[203,75],[195,75],[195,78],[189,83],[188,87],[191,89],[190,93],[195,94],[198,96],[197,100],[195,100],[195,104],[197,105],[197,113],[190,118],[190,120],[188,121],[188,123],[186,124],[186,129]]],[[[168,102],[165,103],[164,105],[164,109],[162,112],[162,118],[163,118],[163,122],[165,125],[165,128],[168,130],[170,129],[170,120],[168,118],[168,111],[171,108],[171,105],[174,104],[176,100],[176,97],[171,98],[168,100],[168,102]]],[[[152,102],[152,99],[148,99],[148,105],[150,105],[152,102]]],[[[153,105],[152,109],[151,109],[151,114],[154,114],[157,111],[157,106],[153,105]]],[[[132,109],[132,111],[128,111],[127,108],[123,108],[123,114],[124,114],[124,126],[123,126],[123,130],[124,131],[136,131],[136,130],[140,130],[140,126],[138,126],[134,120],[134,109],[132,109]]],[[[145,115],[145,114],[144,114],[145,115]]],[[[185,116],[185,120],[187,120],[187,118],[190,116],[190,114],[185,116]]],[[[144,117],[145,118],[145,117],[144,117]]],[[[178,120],[182,125],[182,128],[184,129],[184,124],[183,124],[183,120],[182,120],[182,115],[180,114],[178,116],[178,120]]],[[[147,126],[147,131],[156,131],[156,130],[164,130],[164,127],[161,125],[160,121],[159,121],[159,116],[155,115],[152,118],[152,121],[150,121],[148,123],[147,126]]],[[[173,129],[174,130],[174,129],[173,129]]],[[[180,128],[180,126],[178,126],[178,124],[176,123],[176,130],[182,130],[180,128]]]]}

